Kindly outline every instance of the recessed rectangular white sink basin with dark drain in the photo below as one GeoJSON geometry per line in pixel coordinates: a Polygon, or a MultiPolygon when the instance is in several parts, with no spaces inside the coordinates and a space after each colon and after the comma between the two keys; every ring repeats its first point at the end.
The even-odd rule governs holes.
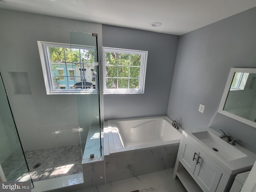
{"type": "Polygon", "coordinates": [[[192,135],[208,146],[210,150],[216,153],[216,155],[227,161],[236,160],[246,156],[246,154],[237,149],[237,146],[229,144],[209,131],[192,132],[192,135]]]}

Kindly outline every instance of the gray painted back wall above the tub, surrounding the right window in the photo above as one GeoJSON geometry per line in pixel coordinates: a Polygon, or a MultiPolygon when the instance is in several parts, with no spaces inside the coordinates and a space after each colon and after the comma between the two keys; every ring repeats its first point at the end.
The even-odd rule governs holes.
{"type": "Polygon", "coordinates": [[[148,51],[144,94],[105,94],[104,118],[166,115],[179,36],[102,25],[106,47],[148,51]]]}

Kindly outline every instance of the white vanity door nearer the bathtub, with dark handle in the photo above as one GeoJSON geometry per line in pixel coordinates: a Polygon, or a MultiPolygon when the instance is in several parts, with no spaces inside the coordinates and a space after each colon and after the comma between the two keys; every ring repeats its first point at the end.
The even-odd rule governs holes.
{"type": "Polygon", "coordinates": [[[196,150],[196,148],[194,148],[189,142],[184,139],[180,154],[180,162],[183,164],[186,170],[190,171],[191,174],[194,174],[198,154],[198,150],[196,150]]]}

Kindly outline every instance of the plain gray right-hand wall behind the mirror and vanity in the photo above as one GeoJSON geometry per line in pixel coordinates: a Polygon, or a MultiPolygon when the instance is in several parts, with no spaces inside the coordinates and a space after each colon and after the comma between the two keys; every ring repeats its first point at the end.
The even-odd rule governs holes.
{"type": "Polygon", "coordinates": [[[185,129],[222,129],[254,153],[256,128],[217,110],[230,68],[256,68],[255,23],[252,8],[180,36],[167,112],[185,129]]]}

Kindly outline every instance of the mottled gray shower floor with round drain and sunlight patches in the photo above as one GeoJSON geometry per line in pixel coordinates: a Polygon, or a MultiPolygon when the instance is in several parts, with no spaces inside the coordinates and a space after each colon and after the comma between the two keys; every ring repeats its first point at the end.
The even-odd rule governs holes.
{"type": "MultiPolygon", "coordinates": [[[[25,156],[33,182],[82,173],[80,145],[26,151],[25,156]],[[33,168],[38,163],[41,165],[33,168]]],[[[5,161],[7,166],[3,166],[4,173],[10,173],[6,176],[7,180],[18,181],[20,177],[17,178],[17,171],[20,171],[20,175],[24,174],[24,165],[17,165],[17,158],[18,154],[12,154],[5,161]]]]}

